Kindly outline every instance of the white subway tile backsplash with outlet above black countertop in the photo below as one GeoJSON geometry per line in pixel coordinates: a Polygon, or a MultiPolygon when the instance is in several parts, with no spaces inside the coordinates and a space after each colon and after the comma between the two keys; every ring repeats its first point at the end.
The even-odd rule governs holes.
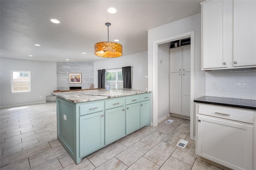
{"type": "Polygon", "coordinates": [[[256,68],[206,71],[206,96],[256,100],[256,68]]]}

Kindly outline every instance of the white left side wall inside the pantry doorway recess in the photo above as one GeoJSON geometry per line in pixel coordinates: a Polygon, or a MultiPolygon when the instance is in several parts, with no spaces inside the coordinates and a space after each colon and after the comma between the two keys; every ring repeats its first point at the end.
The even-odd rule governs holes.
{"type": "Polygon", "coordinates": [[[171,43],[158,45],[158,95],[162,101],[158,103],[158,119],[169,115],[169,50],[171,43]],[[162,63],[161,63],[162,62],[162,63]],[[168,104],[166,104],[168,103],[168,104]]]}

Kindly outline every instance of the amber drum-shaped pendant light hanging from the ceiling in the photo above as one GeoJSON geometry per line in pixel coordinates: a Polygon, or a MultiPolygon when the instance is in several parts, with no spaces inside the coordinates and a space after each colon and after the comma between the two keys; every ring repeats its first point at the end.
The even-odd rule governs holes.
{"type": "MultiPolygon", "coordinates": [[[[105,23],[106,26],[110,26],[111,23],[105,23]]],[[[123,55],[123,47],[121,44],[116,42],[108,41],[99,42],[94,44],[94,54],[99,57],[115,58],[123,55]]]]}

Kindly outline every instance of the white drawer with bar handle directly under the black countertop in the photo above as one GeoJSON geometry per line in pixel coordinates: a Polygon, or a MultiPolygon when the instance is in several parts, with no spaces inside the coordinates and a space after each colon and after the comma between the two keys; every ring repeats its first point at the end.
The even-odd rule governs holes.
{"type": "Polygon", "coordinates": [[[207,105],[207,104],[198,104],[198,105],[199,105],[198,106],[199,114],[253,124],[253,119],[254,119],[253,111],[248,111],[245,109],[236,109],[233,107],[207,105]]]}

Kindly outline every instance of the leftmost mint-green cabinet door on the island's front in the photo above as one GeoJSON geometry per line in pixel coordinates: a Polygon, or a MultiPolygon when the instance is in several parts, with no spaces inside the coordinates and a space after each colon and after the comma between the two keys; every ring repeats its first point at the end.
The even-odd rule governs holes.
{"type": "Polygon", "coordinates": [[[104,111],[80,116],[80,157],[104,147],[104,111]]]}

